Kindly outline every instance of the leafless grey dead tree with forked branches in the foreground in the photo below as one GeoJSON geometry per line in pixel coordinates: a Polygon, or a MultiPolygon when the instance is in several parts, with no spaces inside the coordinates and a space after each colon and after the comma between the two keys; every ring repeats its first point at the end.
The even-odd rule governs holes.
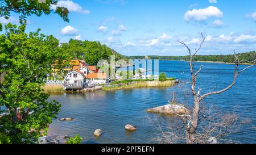
{"type": "MultiPolygon", "coordinates": [[[[184,43],[184,41],[179,41],[180,44],[184,45],[188,52],[189,52],[189,68],[190,68],[190,71],[191,71],[191,79],[192,79],[192,82],[189,82],[189,84],[191,85],[191,89],[192,89],[192,95],[193,95],[193,110],[192,110],[192,114],[191,115],[183,115],[181,116],[181,118],[183,119],[184,121],[184,125],[185,125],[185,131],[186,131],[186,140],[187,140],[187,143],[191,144],[191,143],[201,143],[200,140],[201,139],[205,139],[205,137],[209,137],[209,136],[205,136],[205,135],[210,135],[210,133],[216,131],[217,129],[221,129],[221,128],[227,128],[228,129],[228,125],[232,124],[237,118],[236,118],[236,115],[229,115],[229,116],[226,116],[226,118],[222,118],[222,123],[220,124],[215,124],[216,127],[214,128],[211,128],[211,132],[210,131],[205,131],[205,133],[207,134],[203,134],[201,136],[205,136],[205,137],[200,137],[199,134],[196,133],[197,129],[200,127],[201,129],[205,129],[205,128],[202,128],[199,124],[199,114],[200,114],[200,103],[203,101],[203,99],[207,98],[209,95],[215,95],[215,94],[221,94],[227,90],[229,90],[231,87],[233,87],[236,83],[236,79],[238,77],[238,75],[240,73],[242,73],[243,71],[245,71],[246,69],[249,69],[251,67],[253,67],[255,65],[255,62],[256,62],[256,59],[252,62],[251,65],[249,66],[246,66],[245,68],[241,69],[241,70],[238,70],[238,66],[242,63],[242,62],[248,62],[247,60],[240,60],[240,56],[241,55],[237,55],[237,53],[235,51],[234,52],[234,57],[235,57],[235,61],[234,61],[234,64],[236,65],[234,67],[234,77],[233,77],[233,82],[227,86],[225,89],[222,89],[220,91],[213,91],[213,92],[210,92],[210,93],[206,93],[206,94],[203,94],[201,95],[200,94],[200,91],[201,89],[199,88],[197,91],[196,91],[196,81],[197,81],[197,76],[198,74],[201,72],[201,69],[203,69],[203,66],[200,66],[199,70],[197,70],[195,72],[194,70],[194,65],[193,64],[193,57],[200,51],[204,41],[205,41],[205,37],[203,36],[203,33],[201,33],[201,37],[202,37],[202,40],[201,40],[201,43],[199,45],[199,47],[197,47],[197,44],[196,44],[196,47],[195,47],[195,52],[192,53],[192,50],[191,48],[188,47],[187,44],[184,43]]],[[[228,132],[228,131],[226,131],[228,132]]],[[[221,132],[220,135],[218,135],[218,137],[222,136],[222,135],[225,135],[226,132],[221,132]]]]}

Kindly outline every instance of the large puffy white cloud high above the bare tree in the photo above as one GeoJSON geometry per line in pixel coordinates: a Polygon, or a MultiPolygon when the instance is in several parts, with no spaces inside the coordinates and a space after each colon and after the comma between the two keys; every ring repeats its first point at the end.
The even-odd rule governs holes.
{"type": "Polygon", "coordinates": [[[184,15],[184,19],[186,21],[196,20],[200,22],[213,17],[222,18],[222,16],[223,16],[223,13],[217,7],[209,6],[204,9],[193,9],[193,10],[187,11],[184,15]]]}

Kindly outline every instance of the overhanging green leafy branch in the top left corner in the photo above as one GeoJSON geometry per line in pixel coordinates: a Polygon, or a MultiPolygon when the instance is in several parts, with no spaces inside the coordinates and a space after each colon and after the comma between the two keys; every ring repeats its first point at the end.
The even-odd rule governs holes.
{"type": "Polygon", "coordinates": [[[42,14],[49,15],[53,12],[59,14],[65,22],[69,22],[69,11],[67,8],[56,7],[55,11],[51,9],[51,5],[56,4],[57,0],[1,0],[0,17],[3,16],[5,19],[9,19],[11,12],[15,12],[20,15],[20,24],[26,24],[27,16],[41,16],[42,14]]]}

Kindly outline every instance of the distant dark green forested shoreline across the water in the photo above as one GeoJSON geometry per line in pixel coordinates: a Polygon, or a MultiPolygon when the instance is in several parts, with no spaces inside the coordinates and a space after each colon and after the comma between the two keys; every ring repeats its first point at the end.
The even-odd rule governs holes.
{"type": "MultiPolygon", "coordinates": [[[[256,58],[256,52],[251,51],[247,53],[240,53],[240,60],[247,60],[252,62],[256,58]]],[[[238,54],[238,55],[240,55],[238,54]]],[[[148,56],[150,59],[155,60],[189,60],[189,56],[148,56]]],[[[143,59],[145,56],[130,56],[131,59],[143,59]]],[[[234,62],[234,55],[196,55],[193,57],[193,61],[214,61],[214,62],[234,62]]]]}

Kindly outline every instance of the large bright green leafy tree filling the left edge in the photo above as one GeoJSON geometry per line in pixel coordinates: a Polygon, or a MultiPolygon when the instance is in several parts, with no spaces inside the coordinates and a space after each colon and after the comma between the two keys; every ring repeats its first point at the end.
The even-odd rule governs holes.
{"type": "Polygon", "coordinates": [[[25,33],[24,25],[6,25],[6,35],[0,35],[0,133],[11,143],[33,143],[42,129],[47,131],[52,118],[60,111],[55,100],[47,101],[42,91],[42,79],[52,72],[52,64],[64,58],[53,36],[36,32],[25,33]]]}

